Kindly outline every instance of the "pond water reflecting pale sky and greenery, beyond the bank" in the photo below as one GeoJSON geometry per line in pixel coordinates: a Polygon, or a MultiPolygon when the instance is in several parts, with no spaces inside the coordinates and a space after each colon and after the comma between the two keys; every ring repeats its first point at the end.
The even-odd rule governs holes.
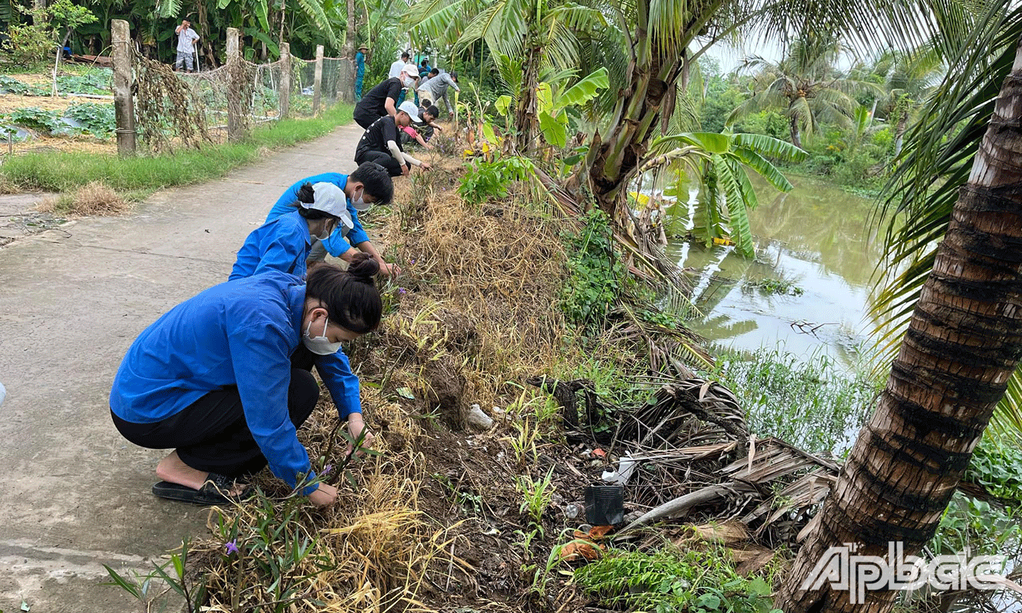
{"type": "Polygon", "coordinates": [[[753,183],[760,197],[750,216],[755,260],[730,246],[668,245],[691,271],[693,297],[704,314],[693,329],[739,349],[784,345],[801,356],[822,351],[850,366],[870,333],[870,279],[881,257],[873,202],[811,179],[792,178],[795,189],[786,194],[753,183]],[[803,293],[750,285],[765,279],[792,282],[803,293]]]}

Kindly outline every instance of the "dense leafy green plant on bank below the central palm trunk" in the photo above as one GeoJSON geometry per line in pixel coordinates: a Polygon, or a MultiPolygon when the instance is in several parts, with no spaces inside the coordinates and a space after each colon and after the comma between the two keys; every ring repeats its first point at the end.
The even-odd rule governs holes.
{"type": "Polygon", "coordinates": [[[606,215],[594,208],[584,222],[582,232],[562,236],[568,246],[569,276],[561,293],[561,308],[572,322],[599,327],[617,301],[626,271],[614,254],[606,215]]]}

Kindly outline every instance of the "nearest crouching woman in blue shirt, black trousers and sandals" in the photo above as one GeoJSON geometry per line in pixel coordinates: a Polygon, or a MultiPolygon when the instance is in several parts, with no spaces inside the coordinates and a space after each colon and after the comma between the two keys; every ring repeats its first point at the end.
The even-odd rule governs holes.
{"type": "MultiPolygon", "coordinates": [[[[214,286],[146,328],[114,377],[110,412],[131,442],[175,450],[156,466],[153,493],[223,504],[236,478],[267,463],[292,487],[315,478],[296,435],[319,399],[313,364],[349,432],[362,434],[359,379],[340,343],[379,325],[378,272],[364,253],[347,271],[318,267],[308,283],[270,270],[214,286]]],[[[337,498],[326,483],[303,493],[317,505],[337,498]]]]}

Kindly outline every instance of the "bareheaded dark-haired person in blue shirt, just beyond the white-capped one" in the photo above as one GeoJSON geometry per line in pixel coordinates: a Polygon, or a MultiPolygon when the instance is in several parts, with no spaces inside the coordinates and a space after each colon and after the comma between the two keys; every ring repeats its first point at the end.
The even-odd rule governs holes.
{"type": "Polygon", "coordinates": [[[287,191],[277,199],[266,217],[267,223],[294,210],[293,204],[298,199],[298,190],[304,184],[312,183],[315,185],[320,182],[332,183],[343,190],[347,201],[347,213],[352,218],[352,227],[339,225],[325,240],[313,241],[309,253],[310,270],[312,270],[312,266],[326,260],[327,253],[351,262],[356,253],[362,251],[369,253],[384,273],[388,275],[400,274],[401,268],[396,264],[387,264],[383,260],[373,243],[369,241],[369,235],[366,234],[359,222],[359,213],[368,210],[373,204],[386,204],[393,198],[393,181],[386,169],[378,163],[360,164],[351,175],[323,173],[306,177],[287,188],[287,191]]]}

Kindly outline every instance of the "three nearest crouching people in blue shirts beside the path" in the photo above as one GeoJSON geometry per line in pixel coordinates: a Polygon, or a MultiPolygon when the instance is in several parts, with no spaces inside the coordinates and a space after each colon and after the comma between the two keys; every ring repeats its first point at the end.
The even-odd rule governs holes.
{"type": "Polygon", "coordinates": [[[174,450],[156,465],[155,496],[225,504],[245,496],[245,481],[269,464],[312,503],[336,501],[296,430],[320,396],[315,366],[353,440],[366,446],[372,438],[340,345],[379,325],[374,276],[401,272],[359,223],[392,196],[389,173],[373,161],[298,181],[245,239],[226,282],[135,339],[113,380],[110,414],[131,442],[174,450]],[[324,264],[326,253],[347,270],[324,264]]]}

